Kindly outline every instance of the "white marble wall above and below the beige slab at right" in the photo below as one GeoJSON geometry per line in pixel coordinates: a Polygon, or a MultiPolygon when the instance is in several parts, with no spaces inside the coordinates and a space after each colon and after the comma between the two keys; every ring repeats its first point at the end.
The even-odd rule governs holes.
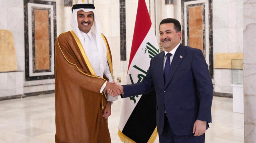
{"type": "MultiPolygon", "coordinates": [[[[213,56],[243,53],[242,0],[213,0],[213,56]]],[[[231,69],[214,69],[214,91],[232,93],[231,69]]]]}

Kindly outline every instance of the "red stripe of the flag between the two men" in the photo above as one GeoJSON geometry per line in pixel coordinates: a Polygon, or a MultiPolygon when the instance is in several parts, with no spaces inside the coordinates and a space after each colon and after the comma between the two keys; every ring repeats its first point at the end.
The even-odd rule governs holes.
{"type": "Polygon", "coordinates": [[[134,33],[132,38],[132,48],[131,48],[129,65],[128,65],[128,71],[132,63],[132,59],[136,54],[136,52],[138,51],[142,41],[148,34],[150,27],[151,27],[151,20],[148,14],[148,8],[146,6],[146,2],[145,0],[139,0],[134,33]]]}

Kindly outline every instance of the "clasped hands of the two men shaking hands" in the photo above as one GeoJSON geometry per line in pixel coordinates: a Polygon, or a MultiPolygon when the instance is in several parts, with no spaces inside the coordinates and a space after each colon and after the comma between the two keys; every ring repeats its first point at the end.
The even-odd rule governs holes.
{"type": "Polygon", "coordinates": [[[105,90],[107,93],[111,96],[118,96],[120,94],[124,94],[124,88],[120,84],[112,81],[112,82],[107,82],[105,90]]]}

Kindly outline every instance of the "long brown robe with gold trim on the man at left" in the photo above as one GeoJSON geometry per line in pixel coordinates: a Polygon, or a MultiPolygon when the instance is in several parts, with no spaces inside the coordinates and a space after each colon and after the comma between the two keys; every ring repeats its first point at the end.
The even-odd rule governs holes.
{"type": "MultiPolygon", "coordinates": [[[[82,54],[84,49],[79,39],[74,38],[72,32],[60,34],[55,43],[55,141],[111,143],[102,109],[106,107],[106,96],[100,94],[100,88],[108,79],[105,75],[104,78],[95,76],[86,54],[82,54]]],[[[103,39],[112,72],[110,49],[105,37],[103,39]]]]}

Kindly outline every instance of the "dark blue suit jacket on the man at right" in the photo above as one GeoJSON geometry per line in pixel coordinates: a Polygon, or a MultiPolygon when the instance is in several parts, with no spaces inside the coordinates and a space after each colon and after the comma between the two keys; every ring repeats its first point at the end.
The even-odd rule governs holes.
{"type": "Polygon", "coordinates": [[[212,121],[213,85],[204,55],[200,49],[180,44],[172,59],[166,84],[163,63],[164,51],[151,59],[142,82],[124,85],[121,97],[145,94],[155,88],[158,133],[161,135],[164,128],[165,109],[174,134],[192,134],[196,119],[212,121]]]}

